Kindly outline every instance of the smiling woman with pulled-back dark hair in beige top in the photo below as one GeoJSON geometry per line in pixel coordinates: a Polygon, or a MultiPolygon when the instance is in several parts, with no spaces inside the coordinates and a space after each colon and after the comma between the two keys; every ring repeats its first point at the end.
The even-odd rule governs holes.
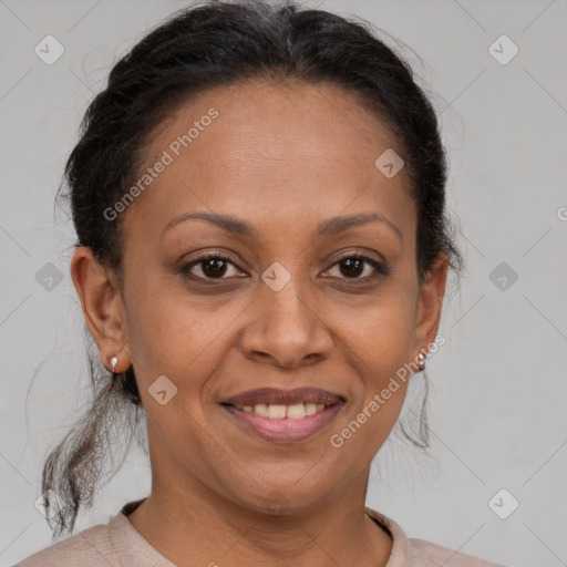
{"type": "Polygon", "coordinates": [[[45,505],[71,533],[127,415],[152,491],[19,565],[494,565],[364,505],[462,266],[409,65],[324,11],[207,2],[114,66],[81,134],[71,275],[106,371],[45,505]]]}

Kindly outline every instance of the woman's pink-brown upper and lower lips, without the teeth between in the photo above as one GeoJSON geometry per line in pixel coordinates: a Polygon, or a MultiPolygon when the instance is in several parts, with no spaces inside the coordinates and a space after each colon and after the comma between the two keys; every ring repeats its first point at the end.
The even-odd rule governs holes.
{"type": "Polygon", "coordinates": [[[303,441],[320,433],[333,420],[344,405],[344,398],[319,388],[296,388],[281,390],[277,388],[260,388],[248,390],[234,395],[220,403],[223,410],[231,415],[245,431],[251,432],[265,441],[289,443],[303,441]],[[271,419],[245,412],[237,406],[256,405],[293,405],[297,403],[324,404],[321,410],[300,420],[281,417],[271,419]]]}

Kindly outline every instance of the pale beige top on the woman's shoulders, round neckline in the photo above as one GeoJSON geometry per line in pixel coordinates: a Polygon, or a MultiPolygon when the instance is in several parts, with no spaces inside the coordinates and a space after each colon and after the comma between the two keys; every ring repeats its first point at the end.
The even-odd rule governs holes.
{"type": "MultiPolygon", "coordinates": [[[[107,524],[100,524],[53,544],[14,567],[175,567],[128,522],[144,498],[128,502],[107,524]]],[[[371,508],[367,514],[393,538],[386,567],[503,567],[422,539],[409,539],[392,519],[371,508]],[[450,561],[451,559],[451,561],[450,561]]]]}

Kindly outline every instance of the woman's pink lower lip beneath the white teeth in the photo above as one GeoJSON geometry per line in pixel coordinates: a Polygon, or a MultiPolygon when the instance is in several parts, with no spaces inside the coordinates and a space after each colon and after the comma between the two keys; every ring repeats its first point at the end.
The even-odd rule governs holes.
{"type": "Polygon", "coordinates": [[[302,420],[291,420],[288,417],[264,417],[254,412],[238,410],[234,405],[223,405],[246,430],[252,431],[266,441],[276,443],[303,441],[319,433],[331,422],[341,406],[341,403],[337,403],[312,415],[306,415],[302,420]]]}

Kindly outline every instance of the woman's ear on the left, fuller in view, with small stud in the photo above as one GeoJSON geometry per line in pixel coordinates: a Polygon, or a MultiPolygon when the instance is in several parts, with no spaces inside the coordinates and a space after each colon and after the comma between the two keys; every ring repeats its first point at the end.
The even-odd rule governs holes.
{"type": "Polygon", "coordinates": [[[112,370],[111,359],[118,362],[116,373],[130,367],[125,346],[124,306],[115,274],[94,258],[91,248],[81,246],[71,259],[71,278],[91,334],[99,347],[102,363],[112,370]]]}

